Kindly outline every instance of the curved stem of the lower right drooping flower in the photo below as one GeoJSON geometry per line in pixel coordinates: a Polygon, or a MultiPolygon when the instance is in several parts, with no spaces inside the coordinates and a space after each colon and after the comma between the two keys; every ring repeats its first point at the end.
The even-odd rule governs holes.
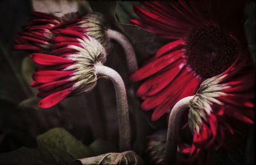
{"type": "Polygon", "coordinates": [[[168,123],[166,153],[164,157],[164,161],[167,164],[175,165],[176,163],[180,118],[182,114],[188,109],[189,101],[193,97],[194,96],[182,98],[172,108],[168,123]]]}

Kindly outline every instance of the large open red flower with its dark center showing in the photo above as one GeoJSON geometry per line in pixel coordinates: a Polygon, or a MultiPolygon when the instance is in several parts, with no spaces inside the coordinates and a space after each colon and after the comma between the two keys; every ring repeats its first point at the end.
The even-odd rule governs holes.
{"type": "MultiPolygon", "coordinates": [[[[154,109],[152,120],[158,120],[181,98],[194,95],[200,83],[221,74],[244,53],[234,24],[240,27],[240,1],[228,6],[228,19],[220,1],[159,1],[135,5],[140,19],[131,22],[163,38],[174,40],[161,47],[156,55],[131,75],[142,81],[137,95],[141,109],[154,109]],[[211,3],[212,2],[212,3],[211,3]],[[220,3],[221,5],[218,5],[220,3]],[[235,8],[233,8],[235,6],[235,8]],[[229,17],[228,17],[229,18],[229,17]],[[231,28],[230,28],[231,27],[231,28]]],[[[228,1],[229,2],[229,1],[228,1]]],[[[226,3],[226,2],[225,2],[226,3]]]]}

